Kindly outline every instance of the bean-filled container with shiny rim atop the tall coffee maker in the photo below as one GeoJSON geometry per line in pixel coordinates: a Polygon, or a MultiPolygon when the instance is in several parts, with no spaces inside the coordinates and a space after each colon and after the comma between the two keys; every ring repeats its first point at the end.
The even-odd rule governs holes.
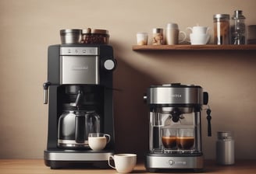
{"type": "Polygon", "coordinates": [[[88,28],[83,30],[82,44],[108,44],[108,30],[99,30],[88,28]]]}

